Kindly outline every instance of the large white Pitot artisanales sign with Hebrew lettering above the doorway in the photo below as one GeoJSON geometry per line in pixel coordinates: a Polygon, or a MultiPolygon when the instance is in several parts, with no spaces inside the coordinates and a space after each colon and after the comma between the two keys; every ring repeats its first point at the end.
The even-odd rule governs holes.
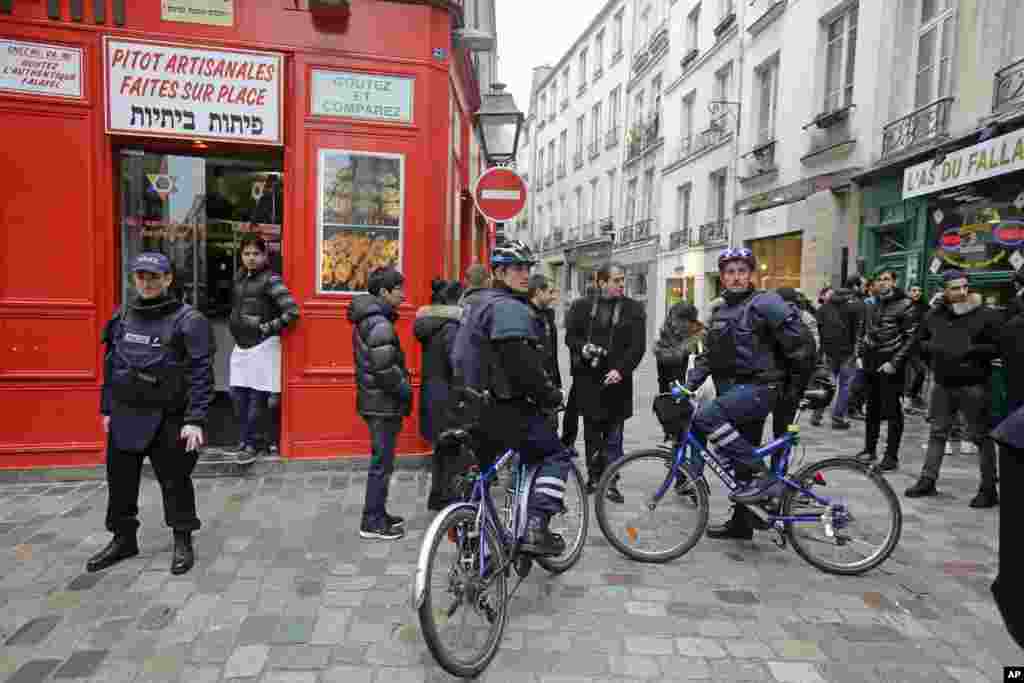
{"type": "Polygon", "coordinates": [[[111,133],[282,144],[282,70],[272,52],[105,42],[111,133]]]}

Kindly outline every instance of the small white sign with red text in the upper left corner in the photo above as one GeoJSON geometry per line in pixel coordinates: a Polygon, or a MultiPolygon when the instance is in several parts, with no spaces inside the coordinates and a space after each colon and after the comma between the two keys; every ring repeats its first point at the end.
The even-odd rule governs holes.
{"type": "Polygon", "coordinates": [[[81,99],[82,50],[0,40],[0,90],[81,99]]]}

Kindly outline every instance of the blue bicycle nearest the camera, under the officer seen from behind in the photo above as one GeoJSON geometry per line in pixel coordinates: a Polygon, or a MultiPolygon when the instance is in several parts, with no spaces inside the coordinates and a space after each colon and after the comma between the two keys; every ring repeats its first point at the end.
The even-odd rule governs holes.
{"type": "MultiPolygon", "coordinates": [[[[455,431],[454,438],[468,447],[468,434],[455,431]]],[[[565,541],[561,555],[534,557],[520,552],[526,504],[540,467],[521,463],[514,451],[482,473],[472,470],[465,478],[465,501],[437,513],[423,537],[413,607],[427,647],[450,674],[472,678],[486,669],[501,645],[509,600],[534,560],[556,574],[580,561],[590,507],[583,476],[571,459],[569,464],[562,511],[550,524],[565,541]],[[494,487],[505,493],[501,512],[492,497],[494,487]],[[510,590],[513,571],[518,582],[510,590]]]]}

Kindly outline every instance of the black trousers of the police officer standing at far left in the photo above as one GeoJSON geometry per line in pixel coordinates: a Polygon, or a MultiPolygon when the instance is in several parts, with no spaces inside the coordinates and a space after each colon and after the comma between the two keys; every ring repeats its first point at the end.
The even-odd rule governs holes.
{"type": "Polygon", "coordinates": [[[106,444],[106,530],[132,536],[138,529],[138,489],[142,461],[150,459],[164,499],[164,521],[175,531],[200,527],[196,515],[196,489],[191,472],[199,452],[185,453],[180,438],[181,421],[164,420],[153,442],[142,453],[129,453],[106,444]]]}

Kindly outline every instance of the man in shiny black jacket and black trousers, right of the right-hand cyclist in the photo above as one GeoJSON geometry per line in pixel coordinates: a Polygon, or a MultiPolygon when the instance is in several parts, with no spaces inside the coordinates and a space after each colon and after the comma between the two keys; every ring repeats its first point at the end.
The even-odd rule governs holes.
{"type": "Polygon", "coordinates": [[[910,357],[920,318],[913,302],[896,289],[896,273],[886,270],[876,279],[878,295],[867,305],[857,339],[857,364],[864,371],[867,389],[864,450],[857,456],[872,462],[878,456],[882,421],[889,422],[886,456],[879,469],[899,467],[899,446],[903,439],[903,386],[906,361],[910,357]]]}

